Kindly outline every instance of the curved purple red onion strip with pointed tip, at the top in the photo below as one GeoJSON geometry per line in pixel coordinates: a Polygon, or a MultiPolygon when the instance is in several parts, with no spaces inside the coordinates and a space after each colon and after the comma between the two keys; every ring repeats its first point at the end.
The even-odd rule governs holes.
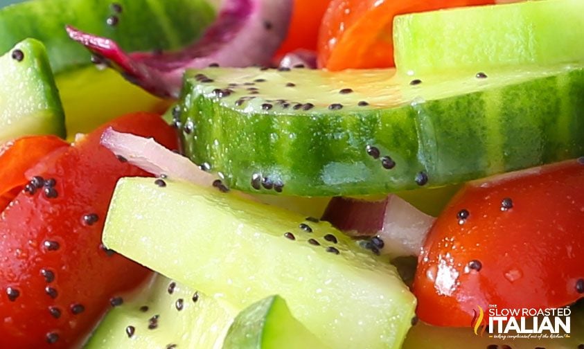
{"type": "Polygon", "coordinates": [[[185,69],[268,64],[286,35],[290,12],[292,0],[226,0],[203,37],[176,53],[128,55],[112,39],[71,26],[67,33],[130,82],[156,96],[177,98],[185,69]]]}

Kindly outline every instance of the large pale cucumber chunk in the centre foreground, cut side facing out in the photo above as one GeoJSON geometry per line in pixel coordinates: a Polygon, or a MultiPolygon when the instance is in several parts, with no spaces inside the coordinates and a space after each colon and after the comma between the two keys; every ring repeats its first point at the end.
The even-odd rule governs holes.
{"type": "Polygon", "coordinates": [[[107,247],[237,310],[280,294],[333,348],[400,348],[414,316],[396,269],[330,224],[214,188],[121,179],[103,234],[107,247]]]}

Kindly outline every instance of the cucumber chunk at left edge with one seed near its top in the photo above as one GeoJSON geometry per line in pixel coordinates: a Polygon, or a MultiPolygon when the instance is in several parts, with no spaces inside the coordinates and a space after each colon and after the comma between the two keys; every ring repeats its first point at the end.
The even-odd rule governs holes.
{"type": "Polygon", "coordinates": [[[0,143],[19,136],[65,136],[64,116],[44,46],[26,39],[0,57],[0,143]]]}

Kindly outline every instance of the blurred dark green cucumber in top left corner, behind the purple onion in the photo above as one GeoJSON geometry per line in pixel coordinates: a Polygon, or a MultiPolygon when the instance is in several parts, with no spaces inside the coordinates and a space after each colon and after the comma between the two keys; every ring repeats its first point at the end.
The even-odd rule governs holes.
{"type": "Polygon", "coordinates": [[[180,48],[214,17],[204,0],[32,0],[0,10],[0,51],[26,37],[38,39],[57,74],[91,64],[91,54],[69,39],[67,24],[109,37],[131,52],[180,48]]]}

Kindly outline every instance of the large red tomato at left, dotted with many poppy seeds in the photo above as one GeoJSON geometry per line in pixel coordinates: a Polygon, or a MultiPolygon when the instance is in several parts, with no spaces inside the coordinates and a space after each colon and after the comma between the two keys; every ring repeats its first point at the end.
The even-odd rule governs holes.
{"type": "Polygon", "coordinates": [[[177,147],[175,131],[159,116],[134,114],[28,171],[44,187],[21,191],[0,215],[0,348],[71,347],[94,328],[110,298],[150,274],[101,245],[116,181],[148,175],[100,145],[109,126],[177,147]]]}

